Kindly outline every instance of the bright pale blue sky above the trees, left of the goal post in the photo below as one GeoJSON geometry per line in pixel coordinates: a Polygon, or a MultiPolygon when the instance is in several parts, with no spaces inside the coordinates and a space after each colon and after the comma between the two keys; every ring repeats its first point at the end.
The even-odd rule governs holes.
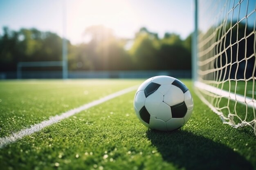
{"type": "Polygon", "coordinates": [[[120,38],[134,38],[146,27],[162,37],[193,31],[193,0],[0,0],[2,27],[36,28],[66,37],[72,44],[86,41],[84,31],[104,25],[120,38]]]}

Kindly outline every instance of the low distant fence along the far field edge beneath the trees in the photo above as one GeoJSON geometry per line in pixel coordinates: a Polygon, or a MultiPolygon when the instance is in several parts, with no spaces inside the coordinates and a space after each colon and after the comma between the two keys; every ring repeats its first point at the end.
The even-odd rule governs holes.
{"type": "MultiPolygon", "coordinates": [[[[69,71],[68,78],[148,78],[169,75],[177,78],[191,78],[190,70],[168,71],[69,71]]],[[[22,71],[22,79],[61,79],[62,71],[22,71]]],[[[2,72],[0,79],[17,79],[16,72],[2,72]]]]}

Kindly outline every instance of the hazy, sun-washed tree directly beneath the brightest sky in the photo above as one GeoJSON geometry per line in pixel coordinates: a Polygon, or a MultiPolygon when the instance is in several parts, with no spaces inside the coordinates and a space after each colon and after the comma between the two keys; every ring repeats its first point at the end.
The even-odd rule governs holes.
{"type": "Polygon", "coordinates": [[[127,70],[131,59],[124,50],[125,41],[114,36],[113,31],[102,25],[90,26],[85,30],[90,37],[86,52],[83,54],[94,70],[127,70]]]}

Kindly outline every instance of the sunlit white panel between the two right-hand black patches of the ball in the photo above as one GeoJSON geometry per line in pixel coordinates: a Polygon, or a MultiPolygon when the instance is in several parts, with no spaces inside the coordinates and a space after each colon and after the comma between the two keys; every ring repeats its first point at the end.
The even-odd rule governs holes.
{"type": "Polygon", "coordinates": [[[184,102],[184,93],[177,86],[171,86],[168,92],[164,95],[164,103],[169,106],[184,102]]]}

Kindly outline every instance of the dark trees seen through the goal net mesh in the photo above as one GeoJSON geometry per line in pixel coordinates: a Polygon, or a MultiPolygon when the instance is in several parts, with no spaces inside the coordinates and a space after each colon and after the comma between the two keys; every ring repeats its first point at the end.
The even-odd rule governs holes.
{"type": "MultiPolygon", "coordinates": [[[[211,27],[208,32],[215,26],[211,27]]],[[[208,33],[207,32],[207,33],[208,33]]],[[[216,53],[219,54],[214,60],[218,79],[250,79],[256,76],[255,71],[255,29],[254,26],[245,22],[227,21],[227,24],[218,27],[216,53]],[[225,68],[223,68],[225,67],[225,68]]]]}

